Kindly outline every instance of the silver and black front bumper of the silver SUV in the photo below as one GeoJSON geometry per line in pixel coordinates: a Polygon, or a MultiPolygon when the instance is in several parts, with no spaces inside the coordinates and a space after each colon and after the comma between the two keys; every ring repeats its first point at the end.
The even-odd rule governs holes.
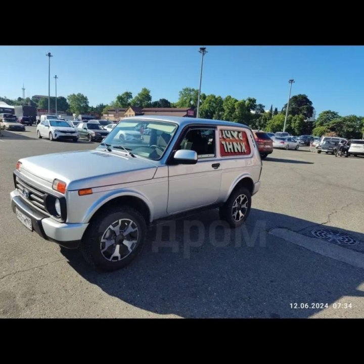
{"type": "Polygon", "coordinates": [[[16,207],[21,213],[29,217],[33,230],[39,236],[65,248],[78,248],[88,223],[58,222],[28,205],[17,190],[11,192],[10,197],[13,212],[15,213],[16,207]]]}

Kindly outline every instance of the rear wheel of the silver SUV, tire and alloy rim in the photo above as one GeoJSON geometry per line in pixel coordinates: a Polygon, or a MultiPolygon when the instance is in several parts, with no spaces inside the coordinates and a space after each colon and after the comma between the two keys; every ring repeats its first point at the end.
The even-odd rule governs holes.
{"type": "Polygon", "coordinates": [[[227,221],[231,228],[238,228],[248,218],[250,207],[250,191],[245,187],[236,188],[220,207],[220,219],[227,221]]]}

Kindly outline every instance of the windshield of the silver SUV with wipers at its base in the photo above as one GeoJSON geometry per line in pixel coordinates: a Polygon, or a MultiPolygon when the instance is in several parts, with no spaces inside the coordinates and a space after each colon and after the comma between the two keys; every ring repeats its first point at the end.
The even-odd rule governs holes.
{"type": "Polygon", "coordinates": [[[165,121],[121,121],[105,138],[111,148],[124,147],[136,156],[158,160],[162,157],[177,125],[165,121]]]}

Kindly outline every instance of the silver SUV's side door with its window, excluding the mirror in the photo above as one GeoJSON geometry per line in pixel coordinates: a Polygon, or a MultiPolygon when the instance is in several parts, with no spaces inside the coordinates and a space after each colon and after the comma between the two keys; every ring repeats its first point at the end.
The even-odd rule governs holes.
{"type": "Polygon", "coordinates": [[[213,204],[220,193],[221,161],[217,157],[216,128],[189,128],[173,148],[178,149],[196,151],[198,161],[168,166],[168,214],[213,204]]]}

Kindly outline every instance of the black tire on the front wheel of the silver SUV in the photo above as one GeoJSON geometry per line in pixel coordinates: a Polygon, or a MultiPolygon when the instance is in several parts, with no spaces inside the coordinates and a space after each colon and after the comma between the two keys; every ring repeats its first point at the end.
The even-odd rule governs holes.
{"type": "MultiPolygon", "coordinates": [[[[129,227],[127,225],[126,229],[129,227]]],[[[115,226],[113,226],[115,227],[115,226]]],[[[126,265],[128,265],[141,251],[145,238],[147,235],[147,224],[142,216],[142,214],[129,206],[119,206],[119,207],[110,207],[106,210],[103,210],[102,213],[97,214],[89,224],[86,233],[82,238],[82,242],[80,245],[80,251],[88,264],[93,267],[97,267],[104,271],[113,271],[120,269],[126,265]],[[137,228],[138,230],[135,232],[131,232],[126,235],[129,239],[135,239],[136,243],[131,245],[131,252],[127,252],[130,249],[127,245],[123,244],[123,237],[121,234],[118,236],[113,233],[113,230],[110,229],[110,226],[115,225],[119,221],[119,223],[123,223],[125,220],[131,221],[130,225],[131,229],[137,228]],[[111,244],[109,248],[105,249],[106,246],[102,245],[102,238],[108,234],[113,234],[112,236],[108,236],[108,238],[114,237],[114,244],[111,244]],[[135,237],[136,235],[136,237],[135,237]],[[119,242],[117,243],[117,239],[119,238],[119,242]],[[117,246],[119,246],[117,248],[117,246]],[[102,252],[104,249],[104,253],[102,252]],[[117,250],[116,250],[117,249],[117,250]],[[113,260],[113,256],[115,252],[119,253],[119,257],[122,254],[120,252],[125,252],[124,258],[120,260],[113,260]],[[108,260],[110,258],[111,260],[108,260]]],[[[104,242],[105,243],[105,242],[104,242]]],[[[106,243],[105,243],[106,244],[106,243]]]]}

